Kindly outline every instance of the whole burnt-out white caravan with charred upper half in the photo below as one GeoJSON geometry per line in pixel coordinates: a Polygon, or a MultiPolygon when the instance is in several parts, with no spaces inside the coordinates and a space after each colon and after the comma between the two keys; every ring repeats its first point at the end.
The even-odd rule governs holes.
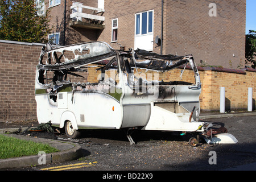
{"type": "MultiPolygon", "coordinates": [[[[199,122],[200,93],[192,55],[114,50],[104,42],[57,48],[47,44],[36,67],[38,121],[65,127],[71,138],[79,135],[79,129],[125,129],[134,144],[129,131],[138,129],[192,133],[208,143],[236,143],[225,130],[199,122]],[[182,77],[187,64],[194,83],[168,80],[169,71],[184,65],[182,77]]],[[[194,146],[198,139],[189,142],[194,146]]]]}

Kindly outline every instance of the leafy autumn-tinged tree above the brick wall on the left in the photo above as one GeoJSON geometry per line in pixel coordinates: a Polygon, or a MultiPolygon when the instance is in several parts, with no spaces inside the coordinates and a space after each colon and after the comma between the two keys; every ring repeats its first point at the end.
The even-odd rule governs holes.
{"type": "Polygon", "coordinates": [[[0,39],[46,43],[51,33],[49,11],[39,16],[39,1],[0,0],[0,39]]]}

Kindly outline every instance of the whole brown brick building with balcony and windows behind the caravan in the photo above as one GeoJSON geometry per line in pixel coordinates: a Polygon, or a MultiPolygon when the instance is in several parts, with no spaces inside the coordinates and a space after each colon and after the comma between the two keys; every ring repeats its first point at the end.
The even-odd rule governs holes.
{"type": "Polygon", "coordinates": [[[116,49],[193,54],[197,64],[224,68],[245,60],[246,0],[45,2],[53,26],[49,37],[60,45],[99,40],[116,49]]]}

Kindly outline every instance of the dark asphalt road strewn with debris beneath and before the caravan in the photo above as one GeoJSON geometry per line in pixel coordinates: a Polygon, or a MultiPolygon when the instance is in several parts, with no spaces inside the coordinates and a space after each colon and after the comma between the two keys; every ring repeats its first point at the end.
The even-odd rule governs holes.
{"type": "Polygon", "coordinates": [[[191,147],[191,136],[159,131],[135,131],[136,142],[131,146],[125,133],[119,130],[84,130],[81,138],[59,140],[79,143],[83,150],[80,159],[71,162],[42,165],[15,170],[40,171],[45,168],[77,171],[221,171],[256,170],[256,116],[205,119],[214,125],[224,126],[237,138],[237,144],[201,143],[191,147]],[[215,154],[215,155],[213,155],[215,154]],[[214,157],[214,158],[213,158],[214,157]],[[210,164],[212,163],[212,164],[210,164]],[[243,168],[241,165],[245,165],[243,168]]]}

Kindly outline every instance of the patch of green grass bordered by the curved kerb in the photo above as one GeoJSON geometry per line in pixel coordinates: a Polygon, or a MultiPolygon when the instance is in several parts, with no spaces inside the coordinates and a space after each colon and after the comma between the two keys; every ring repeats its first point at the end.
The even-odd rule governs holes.
{"type": "Polygon", "coordinates": [[[36,143],[30,140],[20,140],[14,137],[0,135],[0,159],[20,156],[38,155],[39,151],[47,153],[57,152],[56,148],[48,144],[36,143]]]}

